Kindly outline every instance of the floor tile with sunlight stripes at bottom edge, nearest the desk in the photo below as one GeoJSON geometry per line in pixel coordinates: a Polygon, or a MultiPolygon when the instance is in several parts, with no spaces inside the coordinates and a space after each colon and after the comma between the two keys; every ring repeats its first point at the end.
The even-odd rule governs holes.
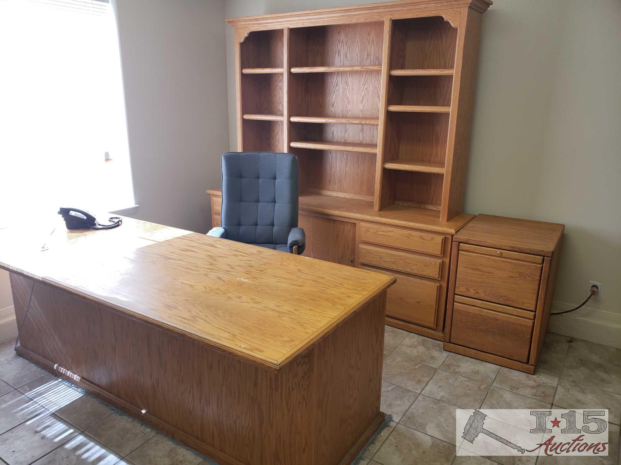
{"type": "Polygon", "coordinates": [[[114,465],[121,458],[93,438],[82,434],[40,458],[33,465],[114,465]]]}

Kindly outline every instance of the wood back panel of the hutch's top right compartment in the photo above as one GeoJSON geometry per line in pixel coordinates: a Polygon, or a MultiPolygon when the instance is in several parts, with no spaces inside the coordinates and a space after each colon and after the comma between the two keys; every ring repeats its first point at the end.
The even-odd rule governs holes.
{"type": "Polygon", "coordinates": [[[396,20],[391,69],[453,69],[457,30],[443,17],[396,20]]]}

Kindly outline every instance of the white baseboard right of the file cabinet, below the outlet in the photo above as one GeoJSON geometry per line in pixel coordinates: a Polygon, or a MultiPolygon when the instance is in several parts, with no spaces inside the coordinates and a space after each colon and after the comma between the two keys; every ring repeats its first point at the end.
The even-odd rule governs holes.
{"type": "MultiPolygon", "coordinates": [[[[575,305],[554,302],[552,312],[574,307],[575,305]]],[[[621,348],[621,315],[618,313],[582,307],[564,315],[551,315],[548,331],[621,348]]]]}

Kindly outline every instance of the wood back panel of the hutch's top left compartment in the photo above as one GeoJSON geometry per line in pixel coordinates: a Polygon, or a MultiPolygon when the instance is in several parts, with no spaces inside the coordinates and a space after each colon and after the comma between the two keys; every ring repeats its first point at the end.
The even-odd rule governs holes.
{"type": "Polygon", "coordinates": [[[283,30],[251,32],[241,44],[242,68],[283,68],[283,30]]]}

